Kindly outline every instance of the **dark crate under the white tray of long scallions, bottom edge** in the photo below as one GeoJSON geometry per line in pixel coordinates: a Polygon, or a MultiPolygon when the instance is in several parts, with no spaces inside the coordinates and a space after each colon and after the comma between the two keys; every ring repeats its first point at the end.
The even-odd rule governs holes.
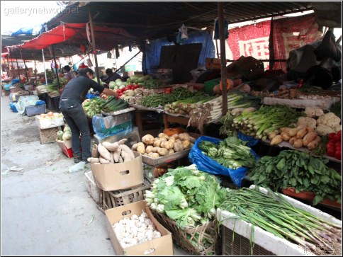
{"type": "Polygon", "coordinates": [[[223,226],[223,255],[227,256],[275,256],[274,253],[254,244],[251,248],[249,239],[223,226]]]}

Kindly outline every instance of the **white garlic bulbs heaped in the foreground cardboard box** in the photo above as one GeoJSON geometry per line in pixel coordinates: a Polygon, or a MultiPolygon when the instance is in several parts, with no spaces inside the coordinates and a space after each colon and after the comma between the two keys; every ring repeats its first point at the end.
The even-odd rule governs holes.
{"type": "Polygon", "coordinates": [[[162,236],[144,211],[140,216],[132,215],[130,219],[128,217],[120,219],[119,222],[113,224],[113,230],[123,248],[162,236]]]}

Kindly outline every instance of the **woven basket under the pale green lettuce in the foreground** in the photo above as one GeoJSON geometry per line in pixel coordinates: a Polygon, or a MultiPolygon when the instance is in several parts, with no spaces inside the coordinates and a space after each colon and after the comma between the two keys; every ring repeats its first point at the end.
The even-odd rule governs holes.
{"type": "Polygon", "coordinates": [[[176,222],[167,217],[167,215],[154,210],[152,210],[152,213],[158,222],[171,232],[174,242],[185,251],[198,256],[218,255],[218,248],[216,247],[218,239],[216,220],[202,226],[181,229],[177,227],[176,222]],[[197,241],[198,246],[192,244],[192,239],[197,241]],[[204,243],[205,241],[211,242],[210,245],[204,243]]]}

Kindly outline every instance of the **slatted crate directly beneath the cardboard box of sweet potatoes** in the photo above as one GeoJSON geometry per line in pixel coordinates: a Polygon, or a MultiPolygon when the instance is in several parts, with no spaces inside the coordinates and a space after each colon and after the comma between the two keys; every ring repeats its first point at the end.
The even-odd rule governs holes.
{"type": "Polygon", "coordinates": [[[151,188],[150,181],[144,178],[143,185],[128,190],[104,191],[100,190],[100,205],[102,210],[128,205],[129,203],[144,200],[145,190],[151,188]]]}

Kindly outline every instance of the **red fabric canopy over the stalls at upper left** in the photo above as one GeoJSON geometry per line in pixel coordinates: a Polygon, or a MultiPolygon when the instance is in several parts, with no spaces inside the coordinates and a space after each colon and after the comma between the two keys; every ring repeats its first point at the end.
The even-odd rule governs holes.
{"type": "MultiPolygon", "coordinates": [[[[50,45],[61,42],[80,42],[87,39],[87,23],[62,23],[52,30],[49,30],[37,38],[33,38],[22,45],[15,45],[15,48],[40,50],[50,45]]],[[[90,35],[90,34],[89,34],[90,35]]],[[[97,50],[112,50],[118,41],[135,38],[123,28],[108,28],[94,26],[94,35],[97,50]]],[[[90,38],[90,36],[89,36],[90,38]]]]}

